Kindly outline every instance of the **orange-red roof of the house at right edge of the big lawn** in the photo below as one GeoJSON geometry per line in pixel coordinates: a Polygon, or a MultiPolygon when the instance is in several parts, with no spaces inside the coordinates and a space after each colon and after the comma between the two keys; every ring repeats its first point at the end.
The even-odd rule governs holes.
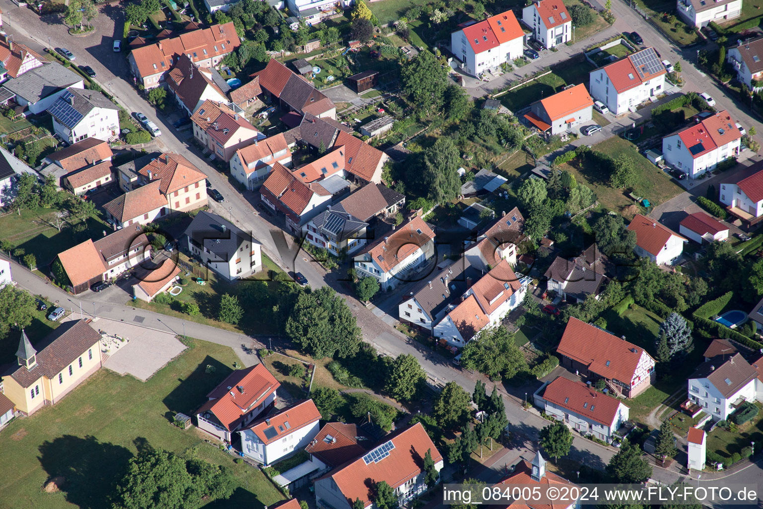
{"type": "Polygon", "coordinates": [[[209,401],[201,405],[196,413],[210,411],[220,424],[232,431],[243,415],[272,395],[280,386],[264,364],[237,369],[207,395],[209,401]]]}

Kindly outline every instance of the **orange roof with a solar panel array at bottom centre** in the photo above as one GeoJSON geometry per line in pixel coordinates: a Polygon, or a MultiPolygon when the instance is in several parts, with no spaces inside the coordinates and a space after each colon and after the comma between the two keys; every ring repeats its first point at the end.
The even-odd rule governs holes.
{"type": "Polygon", "coordinates": [[[369,487],[366,482],[385,481],[392,489],[404,485],[411,478],[421,473],[423,458],[427,450],[431,451],[435,463],[443,460],[437,448],[421,423],[403,430],[391,439],[382,439],[394,444],[389,456],[378,462],[365,464],[362,458],[356,459],[349,465],[328,474],[339,487],[342,495],[348,500],[359,498],[364,507],[371,504],[369,487]]]}

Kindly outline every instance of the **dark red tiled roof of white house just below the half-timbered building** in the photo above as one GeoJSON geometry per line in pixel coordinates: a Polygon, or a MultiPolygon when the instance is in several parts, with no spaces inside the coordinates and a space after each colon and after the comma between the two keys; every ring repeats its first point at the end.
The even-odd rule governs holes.
{"type": "Polygon", "coordinates": [[[546,385],[543,399],[604,426],[612,425],[620,408],[620,400],[617,398],[597,392],[583,382],[572,382],[563,376],[546,385]]]}

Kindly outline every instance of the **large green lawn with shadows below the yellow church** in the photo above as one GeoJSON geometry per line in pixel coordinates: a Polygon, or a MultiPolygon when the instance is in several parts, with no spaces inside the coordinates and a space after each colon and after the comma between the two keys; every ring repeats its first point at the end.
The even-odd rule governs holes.
{"type": "Polygon", "coordinates": [[[108,495],[127,461],[146,445],[233,469],[233,497],[207,507],[261,509],[282,500],[258,469],[234,463],[233,456],[204,443],[195,428],[180,430],[171,424],[177,411],[193,414],[237,360],[227,346],[190,343],[191,348],[148,382],[101,369],[55,406],[2,430],[0,462],[13,468],[0,478],[0,507],[110,507],[108,495]],[[214,373],[206,374],[206,366],[214,366],[214,373]],[[62,491],[43,491],[56,476],[66,480],[62,491]]]}

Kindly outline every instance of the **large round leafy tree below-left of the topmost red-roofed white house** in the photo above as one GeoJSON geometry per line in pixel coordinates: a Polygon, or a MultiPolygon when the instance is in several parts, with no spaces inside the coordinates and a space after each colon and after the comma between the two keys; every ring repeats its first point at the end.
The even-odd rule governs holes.
{"type": "Polygon", "coordinates": [[[448,72],[428,50],[403,63],[401,88],[416,111],[428,114],[443,104],[448,72]]]}

